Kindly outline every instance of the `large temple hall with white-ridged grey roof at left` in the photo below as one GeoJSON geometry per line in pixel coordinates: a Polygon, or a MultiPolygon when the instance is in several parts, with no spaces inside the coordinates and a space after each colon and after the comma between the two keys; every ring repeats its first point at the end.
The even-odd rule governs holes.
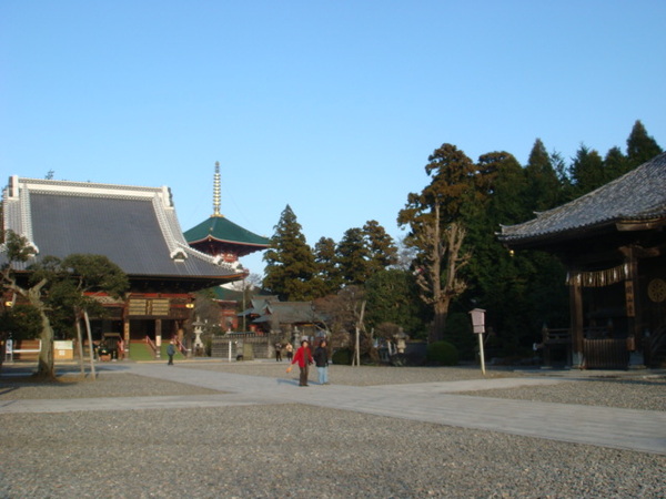
{"type": "Polygon", "coordinates": [[[165,186],[14,175],[4,190],[2,207],[3,231],[24,236],[37,248],[34,259],[17,265],[18,274],[46,256],[94,254],[107,256],[128,275],[130,291],[124,299],[99,298],[110,314],[93,320],[93,339],[115,333],[127,347],[131,342],[147,342],[159,352],[163,337],[182,339],[194,292],[245,275],[228,258],[188,244],[165,186]]]}

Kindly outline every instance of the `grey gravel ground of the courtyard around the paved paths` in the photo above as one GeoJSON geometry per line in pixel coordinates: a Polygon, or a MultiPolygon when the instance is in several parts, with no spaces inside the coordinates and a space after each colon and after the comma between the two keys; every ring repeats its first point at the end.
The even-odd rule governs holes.
{"type": "MultiPolygon", "coordinates": [[[[252,366],[261,367],[243,373],[240,366],[222,367],[264,376],[279,368],[284,375],[285,366],[242,369],[252,366]]],[[[415,383],[418,373],[421,381],[474,376],[464,368],[345,366],[333,366],[331,375],[333,383],[369,386],[415,383]]],[[[72,379],[34,385],[0,378],[0,398],[194,393],[127,374],[103,373],[94,383],[72,379]]],[[[551,401],[596,397],[599,405],[610,399],[614,406],[619,398],[637,404],[640,396],[633,393],[664,398],[664,379],[616,381],[487,395],[531,393],[551,401]]],[[[16,414],[0,415],[0,425],[2,498],[666,497],[665,456],[301,405],[16,414]]]]}

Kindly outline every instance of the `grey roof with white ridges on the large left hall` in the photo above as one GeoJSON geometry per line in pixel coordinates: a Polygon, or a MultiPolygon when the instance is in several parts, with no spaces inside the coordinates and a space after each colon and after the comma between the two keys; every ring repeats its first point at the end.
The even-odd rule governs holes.
{"type": "Polygon", "coordinates": [[[241,273],[188,245],[167,187],[12,176],[3,207],[3,228],[34,244],[38,259],[105,255],[130,277],[233,281],[241,273]]]}

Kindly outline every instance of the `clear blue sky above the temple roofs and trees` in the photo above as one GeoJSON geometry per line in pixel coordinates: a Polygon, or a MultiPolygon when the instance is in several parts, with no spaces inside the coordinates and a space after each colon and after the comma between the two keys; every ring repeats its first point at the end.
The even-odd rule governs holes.
{"type": "MultiPolygon", "coordinates": [[[[444,142],[525,163],[666,146],[666,1],[0,2],[0,173],[161,186],[183,230],[222,213],[310,245],[394,237],[444,142]]],[[[243,264],[263,272],[261,257],[243,264]]]]}

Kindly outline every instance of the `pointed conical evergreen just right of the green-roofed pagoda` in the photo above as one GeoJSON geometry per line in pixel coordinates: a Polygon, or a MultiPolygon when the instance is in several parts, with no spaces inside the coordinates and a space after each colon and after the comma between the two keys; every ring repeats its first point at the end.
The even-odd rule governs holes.
{"type": "Polygon", "coordinates": [[[275,234],[263,256],[266,263],[263,287],[284,302],[312,299],[316,275],[314,255],[290,205],[274,228],[275,234]]]}

